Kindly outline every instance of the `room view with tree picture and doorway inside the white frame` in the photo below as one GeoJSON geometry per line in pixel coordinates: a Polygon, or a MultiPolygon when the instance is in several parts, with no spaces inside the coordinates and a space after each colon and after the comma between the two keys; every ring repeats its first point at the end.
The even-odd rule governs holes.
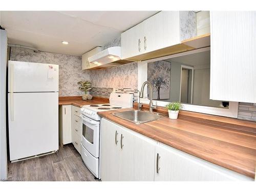
{"type": "Polygon", "coordinates": [[[148,62],[147,80],[154,100],[228,108],[228,101],[209,99],[210,51],[148,62]]]}

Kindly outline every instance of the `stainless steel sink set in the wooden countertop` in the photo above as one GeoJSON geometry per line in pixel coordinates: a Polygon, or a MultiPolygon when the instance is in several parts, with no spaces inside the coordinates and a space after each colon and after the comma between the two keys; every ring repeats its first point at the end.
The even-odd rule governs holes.
{"type": "Polygon", "coordinates": [[[160,115],[159,113],[151,113],[151,112],[139,111],[139,110],[116,112],[112,114],[116,117],[119,117],[127,121],[131,121],[136,124],[154,121],[154,120],[166,117],[162,114],[160,115]]]}

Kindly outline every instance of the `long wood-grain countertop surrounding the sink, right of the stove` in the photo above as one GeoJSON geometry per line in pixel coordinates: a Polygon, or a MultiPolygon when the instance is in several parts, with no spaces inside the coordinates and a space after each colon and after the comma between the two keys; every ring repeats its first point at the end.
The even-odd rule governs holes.
{"type": "Polygon", "coordinates": [[[135,124],[112,115],[98,115],[144,136],[167,144],[211,163],[254,179],[256,163],[256,122],[180,111],[176,120],[168,117],[135,124]]]}

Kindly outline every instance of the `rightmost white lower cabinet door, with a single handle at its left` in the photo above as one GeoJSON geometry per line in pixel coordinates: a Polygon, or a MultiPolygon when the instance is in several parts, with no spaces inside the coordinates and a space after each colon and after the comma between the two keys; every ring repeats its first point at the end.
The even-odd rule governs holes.
{"type": "Polygon", "coordinates": [[[156,146],[155,159],[155,181],[251,180],[162,143],[156,146]]]}

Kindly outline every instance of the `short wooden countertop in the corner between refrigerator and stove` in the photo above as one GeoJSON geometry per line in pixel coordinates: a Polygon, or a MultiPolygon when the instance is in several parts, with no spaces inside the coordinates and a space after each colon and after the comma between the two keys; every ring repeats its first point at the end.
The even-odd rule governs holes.
{"type": "Polygon", "coordinates": [[[92,100],[82,100],[82,96],[67,96],[59,97],[59,105],[75,105],[81,108],[83,105],[87,104],[103,104],[109,103],[109,99],[103,97],[93,97],[92,100]]]}

